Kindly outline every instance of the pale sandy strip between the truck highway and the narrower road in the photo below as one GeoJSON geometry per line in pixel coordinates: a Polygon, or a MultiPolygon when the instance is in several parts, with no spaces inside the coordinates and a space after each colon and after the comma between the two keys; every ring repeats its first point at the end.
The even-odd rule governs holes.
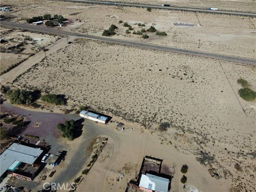
{"type": "Polygon", "coordinates": [[[140,36],[125,33],[128,28],[118,24],[119,20],[123,20],[131,24],[135,31],[154,25],[157,30],[167,33],[167,36],[163,37],[148,32],[146,34],[149,38],[144,40],[147,43],[256,58],[256,18],[168,10],[148,12],[142,8],[73,2],[21,1],[19,7],[16,6],[16,1],[2,3],[15,10],[8,13],[12,21],[25,22],[25,19],[34,16],[35,12],[38,15],[62,14],[71,21],[71,24],[62,30],[101,36],[104,29],[115,24],[118,29],[112,38],[140,41],[140,36]],[[28,12],[28,9],[31,11],[28,12]],[[146,26],[139,27],[136,23],[144,23],[146,26]],[[175,26],[174,23],[195,26],[175,26]]]}

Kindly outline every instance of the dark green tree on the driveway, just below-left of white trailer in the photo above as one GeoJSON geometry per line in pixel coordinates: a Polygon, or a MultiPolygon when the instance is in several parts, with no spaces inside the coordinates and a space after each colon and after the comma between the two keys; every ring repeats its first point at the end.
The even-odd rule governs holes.
{"type": "Polygon", "coordinates": [[[57,128],[62,131],[62,137],[68,138],[70,141],[74,140],[75,121],[73,119],[65,121],[64,124],[58,124],[57,128]]]}

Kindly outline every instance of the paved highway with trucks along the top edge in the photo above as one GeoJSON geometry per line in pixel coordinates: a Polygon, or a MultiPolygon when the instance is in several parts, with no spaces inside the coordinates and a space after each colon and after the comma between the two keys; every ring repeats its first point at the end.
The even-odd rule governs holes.
{"type": "MultiPolygon", "coordinates": [[[[109,1],[95,1],[95,0],[57,0],[57,1],[72,1],[72,2],[104,4],[104,5],[110,5],[110,3],[113,3],[113,1],[109,2],[109,1]]],[[[149,8],[154,8],[154,9],[180,10],[180,11],[190,11],[190,12],[217,13],[217,14],[229,14],[229,15],[256,17],[256,13],[252,13],[252,12],[208,10],[208,9],[200,9],[200,8],[185,8],[185,7],[173,7],[173,6],[164,7],[164,6],[160,6],[160,5],[134,4],[134,3],[122,3],[122,2],[115,2],[115,4],[116,4],[116,6],[130,6],[130,7],[141,7],[141,8],[149,7],[149,8]]]]}

